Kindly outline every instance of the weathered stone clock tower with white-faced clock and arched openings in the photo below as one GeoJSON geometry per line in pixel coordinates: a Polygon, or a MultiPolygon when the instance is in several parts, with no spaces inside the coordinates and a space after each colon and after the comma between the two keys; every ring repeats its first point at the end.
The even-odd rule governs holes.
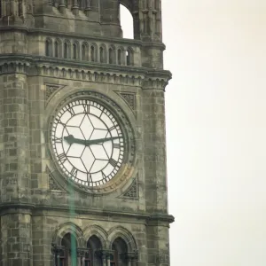
{"type": "Polygon", "coordinates": [[[164,49],[160,0],[0,1],[1,266],[169,265],[164,49]]]}

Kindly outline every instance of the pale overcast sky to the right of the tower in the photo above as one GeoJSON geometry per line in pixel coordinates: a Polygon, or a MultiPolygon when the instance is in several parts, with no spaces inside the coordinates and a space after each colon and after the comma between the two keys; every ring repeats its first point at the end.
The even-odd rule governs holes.
{"type": "Polygon", "coordinates": [[[172,266],[266,265],[266,1],[162,0],[172,266]]]}

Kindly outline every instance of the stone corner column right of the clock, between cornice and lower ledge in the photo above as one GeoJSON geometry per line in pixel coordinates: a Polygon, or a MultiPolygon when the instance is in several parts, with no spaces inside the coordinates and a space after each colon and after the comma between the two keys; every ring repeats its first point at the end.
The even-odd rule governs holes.
{"type": "Polygon", "coordinates": [[[143,90],[143,124],[146,208],[151,213],[167,214],[164,91],[156,90],[153,82],[148,82],[145,86],[146,88],[143,90]]]}

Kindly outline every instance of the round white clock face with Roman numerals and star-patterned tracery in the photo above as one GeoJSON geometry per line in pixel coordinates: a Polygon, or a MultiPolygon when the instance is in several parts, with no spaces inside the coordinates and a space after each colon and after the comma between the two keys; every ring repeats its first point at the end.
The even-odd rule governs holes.
{"type": "Polygon", "coordinates": [[[106,184],[121,168],[121,126],[96,101],[76,99],[63,106],[52,123],[51,144],[59,167],[77,184],[106,184]]]}

